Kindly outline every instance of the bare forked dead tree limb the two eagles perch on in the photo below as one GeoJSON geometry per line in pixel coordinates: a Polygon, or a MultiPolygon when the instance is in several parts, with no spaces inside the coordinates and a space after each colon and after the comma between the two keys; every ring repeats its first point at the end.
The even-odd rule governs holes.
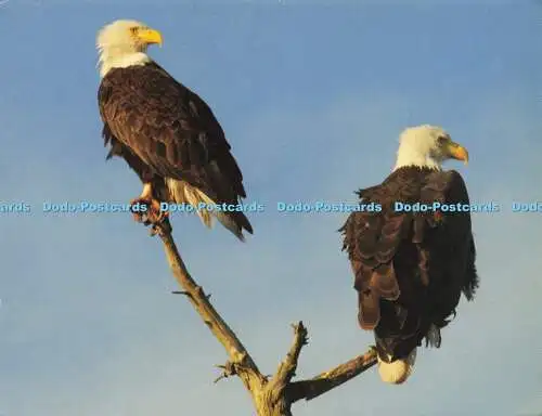
{"type": "Polygon", "coordinates": [[[222,375],[215,381],[237,376],[250,393],[258,416],[292,416],[293,403],[301,399],[314,399],[352,379],[376,363],[376,354],[371,349],[365,354],[314,378],[292,381],[296,374],[301,349],[308,343],[307,328],[302,322],[299,322],[293,325],[294,340],[275,375],[271,378],[263,376],[235,333],[215,310],[209,301],[209,296],[206,296],[203,288],[191,277],[171,236],[169,222],[155,225],[155,232],[164,243],[173,276],[183,289],[177,294],[186,296],[228,353],[229,361],[225,365],[219,366],[222,369],[222,375]]]}

